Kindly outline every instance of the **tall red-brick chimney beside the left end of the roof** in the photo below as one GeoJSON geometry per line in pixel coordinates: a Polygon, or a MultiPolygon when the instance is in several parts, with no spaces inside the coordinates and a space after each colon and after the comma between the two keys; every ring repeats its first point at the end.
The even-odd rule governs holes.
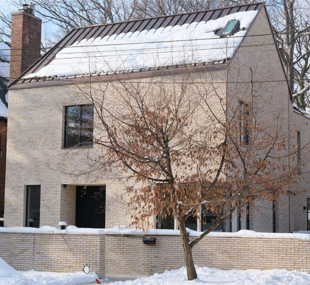
{"type": "Polygon", "coordinates": [[[42,20],[34,11],[34,4],[29,2],[11,15],[10,83],[41,56],[42,20]]]}

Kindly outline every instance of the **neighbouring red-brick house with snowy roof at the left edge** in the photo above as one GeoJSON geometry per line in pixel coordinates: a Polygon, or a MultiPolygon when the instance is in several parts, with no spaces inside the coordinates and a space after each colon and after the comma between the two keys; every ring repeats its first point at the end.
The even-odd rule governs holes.
{"type": "Polygon", "coordinates": [[[10,47],[0,42],[0,225],[3,225],[10,47]]]}

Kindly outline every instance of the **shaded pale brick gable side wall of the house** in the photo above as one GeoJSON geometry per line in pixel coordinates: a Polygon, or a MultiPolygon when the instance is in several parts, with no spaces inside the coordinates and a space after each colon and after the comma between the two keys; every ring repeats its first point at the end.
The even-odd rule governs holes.
{"type": "MultiPolygon", "coordinates": [[[[288,138],[288,128],[291,130],[291,136],[295,129],[302,133],[302,148],[305,147],[302,156],[303,163],[305,163],[304,175],[297,178],[299,181],[295,188],[304,192],[296,196],[290,195],[290,197],[285,195],[281,197],[280,202],[276,203],[276,232],[307,230],[308,213],[307,208],[303,207],[307,206],[307,198],[310,197],[309,180],[307,179],[310,171],[309,157],[307,157],[309,156],[309,146],[306,145],[310,140],[310,120],[303,115],[298,116],[293,111],[289,87],[285,80],[285,73],[277,46],[274,44],[268,15],[266,10],[262,9],[252,23],[247,36],[242,40],[229,66],[228,110],[232,106],[237,106],[239,100],[242,100],[257,111],[255,121],[267,123],[268,121],[273,122],[275,119],[284,140],[288,138]],[[253,85],[250,84],[251,80],[253,85]]],[[[293,145],[297,145],[296,137],[291,137],[290,143],[286,143],[286,151],[289,149],[292,151],[293,145]]],[[[282,151],[282,155],[283,157],[286,155],[285,151],[282,151]]],[[[292,160],[293,158],[290,159],[290,167],[296,165],[296,157],[295,163],[292,160]]],[[[288,161],[286,164],[289,164],[288,161]]],[[[257,201],[255,206],[250,207],[250,212],[250,230],[272,232],[272,203],[257,201]]]]}

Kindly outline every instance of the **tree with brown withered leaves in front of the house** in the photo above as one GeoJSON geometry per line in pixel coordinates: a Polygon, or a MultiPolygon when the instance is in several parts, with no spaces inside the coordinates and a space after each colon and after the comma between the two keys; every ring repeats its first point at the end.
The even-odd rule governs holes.
{"type": "Polygon", "coordinates": [[[299,167],[288,167],[287,150],[294,131],[281,109],[260,114],[260,86],[226,96],[219,86],[227,78],[198,68],[95,81],[78,85],[94,105],[94,143],[102,147],[93,167],[128,182],[119,198],[132,208],[132,225],[147,229],[154,216],[177,220],[188,280],[197,278],[192,249],[210,231],[257,200],[273,203],[288,185],[295,193],[299,167]],[[217,218],[202,220],[208,229],[191,239],[186,222],[200,212],[217,218]]]}

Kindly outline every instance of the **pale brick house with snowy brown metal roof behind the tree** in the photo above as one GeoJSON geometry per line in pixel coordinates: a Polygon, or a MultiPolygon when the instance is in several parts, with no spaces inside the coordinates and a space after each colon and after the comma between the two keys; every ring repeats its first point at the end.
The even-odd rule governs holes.
{"type": "MultiPolygon", "coordinates": [[[[83,118],[97,121],[80,91],[90,79],[95,90],[105,82],[117,85],[115,74],[122,73],[142,82],[159,74],[169,83],[184,65],[206,82],[199,88],[209,88],[216,80],[213,94],[227,101],[236,90],[248,99],[251,66],[256,82],[261,82],[254,83],[259,114],[272,117],[281,106],[283,125],[298,128],[291,145],[309,141],[309,119],[293,108],[263,3],[74,29],[9,87],[5,226],[57,226],[59,221],[90,228],[130,224],[129,209],[116,198],[130,182],[115,173],[88,173],[87,155],[102,154],[100,146],[88,140],[100,135],[96,126],[85,125],[90,135],[71,136],[76,126],[83,126],[83,118]],[[220,37],[230,20],[240,25],[230,22],[237,24],[235,29],[220,37]],[[98,192],[100,198],[93,198],[98,192]]],[[[121,86],[118,91],[122,93],[121,86]]],[[[105,96],[117,105],[113,90],[106,90],[105,96]]],[[[235,103],[242,104],[240,99],[235,103]]],[[[218,106],[215,100],[210,104],[218,106]]],[[[300,189],[308,188],[302,180],[300,189]]],[[[241,221],[228,220],[220,230],[307,230],[308,198],[308,192],[285,196],[282,207],[259,202],[241,221]]],[[[174,221],[163,224],[176,227],[174,221]]],[[[188,224],[203,229],[196,219],[188,224]]],[[[151,226],[156,226],[156,217],[151,226]]]]}

